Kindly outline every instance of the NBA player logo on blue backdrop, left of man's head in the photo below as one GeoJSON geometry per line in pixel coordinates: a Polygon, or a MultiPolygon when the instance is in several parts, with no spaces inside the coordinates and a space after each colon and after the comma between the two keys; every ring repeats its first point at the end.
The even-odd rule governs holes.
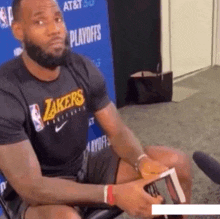
{"type": "Polygon", "coordinates": [[[11,26],[12,20],[12,7],[0,7],[0,27],[4,29],[11,26]]]}

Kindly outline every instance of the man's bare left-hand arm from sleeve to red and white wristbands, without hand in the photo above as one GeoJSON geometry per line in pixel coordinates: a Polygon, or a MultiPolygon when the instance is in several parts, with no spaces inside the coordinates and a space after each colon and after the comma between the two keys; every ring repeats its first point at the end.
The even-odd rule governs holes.
{"type": "Polygon", "coordinates": [[[0,169],[16,190],[31,205],[103,203],[103,186],[44,177],[31,143],[0,146],[0,169]]]}

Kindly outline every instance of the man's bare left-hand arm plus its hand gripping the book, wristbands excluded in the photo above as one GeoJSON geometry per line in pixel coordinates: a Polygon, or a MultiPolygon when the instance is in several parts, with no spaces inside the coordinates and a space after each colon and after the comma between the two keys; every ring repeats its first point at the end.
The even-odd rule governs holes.
{"type": "MultiPolygon", "coordinates": [[[[42,176],[38,159],[28,140],[0,146],[0,169],[20,197],[31,206],[104,202],[103,185],[42,176]]],[[[156,178],[114,185],[115,204],[131,215],[149,216],[150,205],[161,203],[162,198],[151,197],[143,187],[156,178]]]]}

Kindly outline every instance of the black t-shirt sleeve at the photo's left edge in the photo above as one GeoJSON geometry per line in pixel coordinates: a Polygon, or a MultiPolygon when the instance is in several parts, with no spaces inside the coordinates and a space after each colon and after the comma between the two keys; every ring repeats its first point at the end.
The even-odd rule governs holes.
{"type": "Polygon", "coordinates": [[[11,93],[0,89],[0,145],[28,139],[24,130],[25,113],[11,93]]]}

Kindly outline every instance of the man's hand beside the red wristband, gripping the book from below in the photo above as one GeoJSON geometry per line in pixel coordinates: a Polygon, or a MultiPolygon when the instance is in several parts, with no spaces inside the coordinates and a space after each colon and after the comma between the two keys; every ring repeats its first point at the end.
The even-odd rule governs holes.
{"type": "Polygon", "coordinates": [[[117,184],[113,187],[115,204],[133,217],[149,217],[152,215],[152,204],[160,204],[163,201],[161,196],[152,197],[144,190],[144,186],[158,179],[158,176],[151,175],[149,179],[117,184]]]}

